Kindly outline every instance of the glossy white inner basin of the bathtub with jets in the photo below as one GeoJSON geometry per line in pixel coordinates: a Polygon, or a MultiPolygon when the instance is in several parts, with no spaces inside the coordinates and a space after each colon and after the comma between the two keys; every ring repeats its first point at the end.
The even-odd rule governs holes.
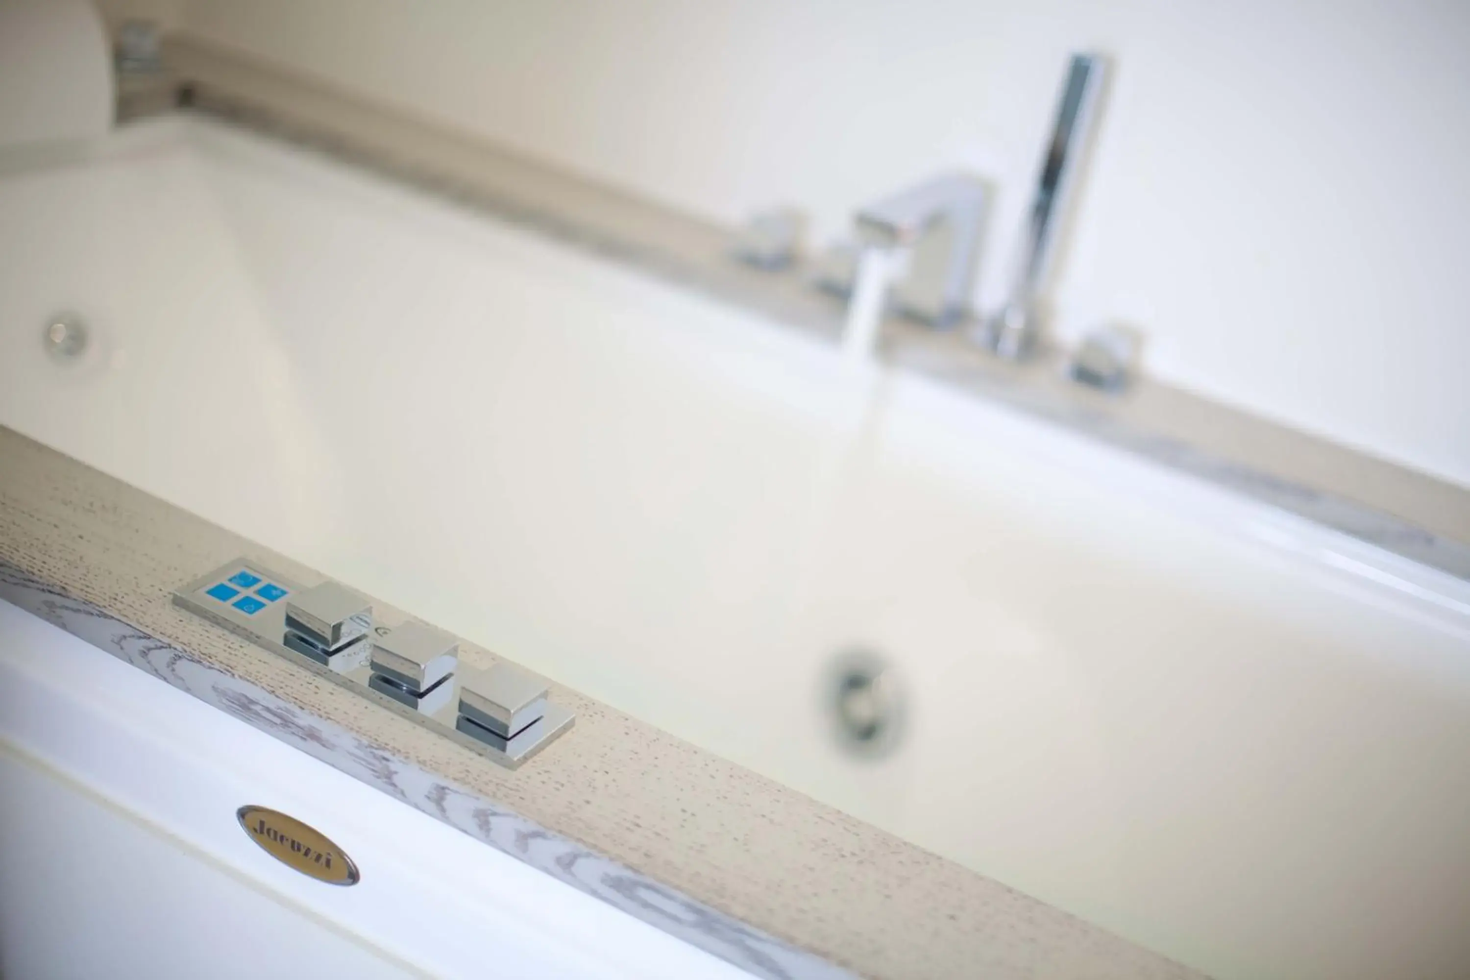
{"type": "Polygon", "coordinates": [[[1080,436],[178,120],[0,181],[0,422],[1220,977],[1470,970],[1470,585],[1080,436]]]}

